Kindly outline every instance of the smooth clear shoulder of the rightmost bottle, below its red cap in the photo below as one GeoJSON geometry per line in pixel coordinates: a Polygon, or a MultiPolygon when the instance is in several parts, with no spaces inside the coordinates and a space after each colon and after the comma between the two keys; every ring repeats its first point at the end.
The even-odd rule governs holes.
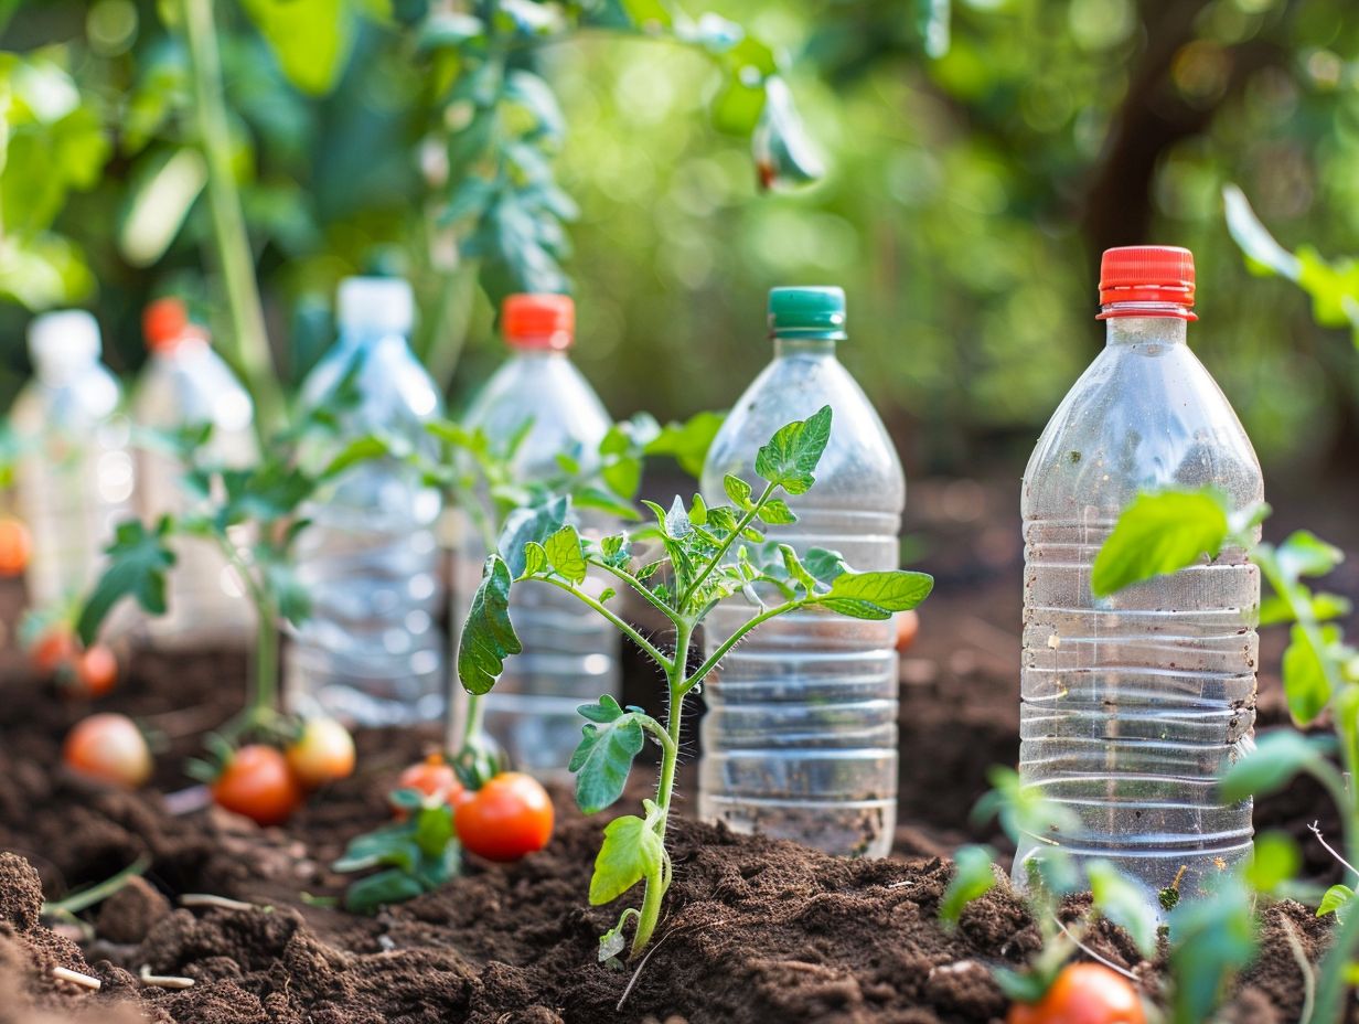
{"type": "Polygon", "coordinates": [[[1139,492],[1215,485],[1235,507],[1264,498],[1250,438],[1185,344],[1110,345],[1057,407],[1029,458],[1026,519],[1095,511],[1139,492]]]}

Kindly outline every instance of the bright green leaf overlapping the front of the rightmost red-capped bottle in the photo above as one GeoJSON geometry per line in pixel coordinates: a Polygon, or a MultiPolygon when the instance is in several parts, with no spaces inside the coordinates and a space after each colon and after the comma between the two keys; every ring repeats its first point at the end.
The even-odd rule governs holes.
{"type": "Polygon", "coordinates": [[[1227,513],[1226,498],[1212,488],[1139,495],[1099,548],[1090,589],[1108,597],[1215,556],[1227,539],[1227,513]]]}

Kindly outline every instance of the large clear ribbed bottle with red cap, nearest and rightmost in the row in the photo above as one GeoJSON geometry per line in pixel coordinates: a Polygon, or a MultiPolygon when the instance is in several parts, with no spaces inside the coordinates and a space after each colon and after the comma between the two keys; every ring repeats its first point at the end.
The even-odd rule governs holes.
{"type": "Polygon", "coordinates": [[[1216,782],[1253,747],[1260,575],[1242,551],[1112,597],[1090,568],[1139,492],[1212,484],[1261,500],[1260,464],[1222,390],[1185,343],[1193,257],[1104,254],[1108,343],[1059,407],[1023,481],[1025,617],[1019,771],[1064,806],[1060,843],[1155,893],[1196,895],[1250,853],[1250,801],[1216,782]]]}

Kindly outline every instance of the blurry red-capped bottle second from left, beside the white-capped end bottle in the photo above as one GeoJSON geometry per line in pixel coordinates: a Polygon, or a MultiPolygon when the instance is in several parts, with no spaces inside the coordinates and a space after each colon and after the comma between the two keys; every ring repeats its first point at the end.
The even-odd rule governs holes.
{"type": "MultiPolygon", "coordinates": [[[[258,446],[250,394],[212,351],[207,332],[189,322],[183,303],[158,299],[147,306],[141,324],[151,360],[133,401],[136,422],[159,431],[209,424],[212,432],[200,460],[224,468],[254,461],[258,446]]],[[[143,518],[154,522],[192,511],[178,460],[145,447],[137,468],[143,518]]],[[[234,540],[242,548],[249,544],[246,533],[234,540]]],[[[254,635],[254,609],[216,541],[183,537],[174,547],[178,560],[169,577],[169,608],[148,620],[151,641],[162,647],[246,646],[254,635]]]]}

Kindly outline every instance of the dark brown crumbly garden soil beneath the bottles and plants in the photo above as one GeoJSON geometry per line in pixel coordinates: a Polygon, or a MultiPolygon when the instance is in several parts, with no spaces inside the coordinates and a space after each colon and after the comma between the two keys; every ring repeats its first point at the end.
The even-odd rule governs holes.
{"type": "MultiPolygon", "coordinates": [[[[261,830],[202,806],[182,774],[202,733],[236,707],[243,655],[133,658],[129,679],[96,707],[133,715],[159,734],[160,749],[154,786],[124,793],[61,768],[61,738],[91,706],[56,698],[7,645],[0,849],[12,855],[0,857],[0,1021],[1003,1020],[1007,1002],[989,968],[1021,966],[1040,941],[1023,903],[1002,881],[953,930],[936,912],[959,843],[1004,849],[993,825],[973,824],[969,812],[987,770],[1014,764],[1018,752],[1019,555],[1012,524],[996,536],[966,519],[958,529],[970,543],[940,547],[966,555],[927,562],[936,594],[902,665],[892,857],[826,857],[681,816],[656,940],[644,960],[622,966],[597,959],[621,906],[586,900],[607,816],[583,819],[565,789],[553,790],[557,831],[542,853],[508,866],[470,858],[443,889],[356,917],[337,906],[348,877],[329,865],[349,838],[387,820],[386,791],[434,744],[432,730],[361,733],[355,778],[315,794],[285,827],[261,830]],[[39,919],[43,896],[61,899],[139,858],[148,861],[144,876],[77,921],[39,919]],[[58,967],[101,987],[58,979],[58,967]]],[[[1339,589],[1352,593],[1355,583],[1341,579],[1339,589]]],[[[18,590],[0,590],[0,617],[14,623],[18,590]]],[[[1268,645],[1263,664],[1277,665],[1268,645]]],[[[651,676],[632,668],[625,698],[654,704],[651,676]]],[[[1260,723],[1283,718],[1277,680],[1265,676],[1260,723]]],[[[618,813],[635,810],[646,776],[635,774],[618,813]]],[[[681,794],[684,815],[692,778],[681,779],[681,794]]],[[[1324,797],[1303,786],[1257,809],[1257,828],[1295,835],[1309,873],[1329,881],[1335,865],[1307,842],[1318,819],[1337,832],[1324,797]]],[[[1074,900],[1063,914],[1075,921],[1082,911],[1074,900]]],[[[1226,1019],[1295,1021],[1303,976],[1288,933],[1316,961],[1329,926],[1295,903],[1260,914],[1263,952],[1238,979],[1226,1019]]],[[[1161,966],[1143,963],[1127,936],[1099,923],[1086,941],[1158,993],[1161,966]]]]}

